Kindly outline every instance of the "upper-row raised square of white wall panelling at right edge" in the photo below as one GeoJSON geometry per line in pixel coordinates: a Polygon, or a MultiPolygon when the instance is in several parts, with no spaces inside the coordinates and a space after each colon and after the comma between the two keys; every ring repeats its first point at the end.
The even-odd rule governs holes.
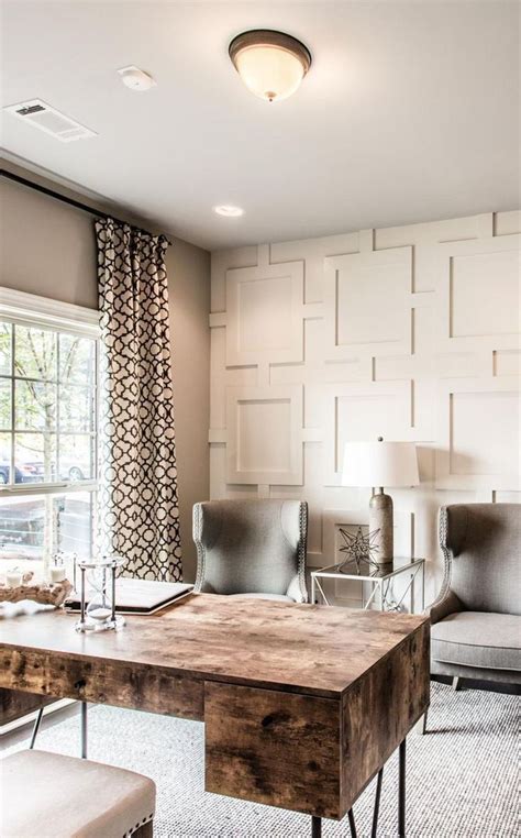
{"type": "Polygon", "coordinates": [[[519,346],[521,235],[446,242],[437,249],[441,351],[519,346]]]}

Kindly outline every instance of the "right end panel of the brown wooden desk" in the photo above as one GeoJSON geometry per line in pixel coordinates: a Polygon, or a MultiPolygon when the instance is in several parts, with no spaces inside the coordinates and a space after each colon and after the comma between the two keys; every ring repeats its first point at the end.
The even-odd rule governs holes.
{"type": "Polygon", "coordinates": [[[430,624],[356,681],[342,702],[342,815],[430,702],[430,624]]]}

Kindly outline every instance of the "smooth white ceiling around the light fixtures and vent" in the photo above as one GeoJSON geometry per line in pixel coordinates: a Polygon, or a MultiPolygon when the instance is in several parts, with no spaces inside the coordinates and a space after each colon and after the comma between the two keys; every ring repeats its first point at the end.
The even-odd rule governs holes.
{"type": "Polygon", "coordinates": [[[3,118],[12,154],[209,249],[519,205],[517,2],[4,2],[3,104],[38,97],[99,136],[3,118]],[[228,58],[239,32],[306,42],[268,104],[228,58]],[[157,87],[136,93],[129,64],[157,87]],[[244,208],[220,218],[219,203],[244,208]]]}

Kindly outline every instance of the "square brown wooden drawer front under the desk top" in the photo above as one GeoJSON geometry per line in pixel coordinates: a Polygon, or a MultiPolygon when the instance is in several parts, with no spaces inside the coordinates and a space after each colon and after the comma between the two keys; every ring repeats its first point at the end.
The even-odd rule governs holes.
{"type": "Polygon", "coordinates": [[[340,701],[208,682],[206,791],[339,817],[340,701]]]}

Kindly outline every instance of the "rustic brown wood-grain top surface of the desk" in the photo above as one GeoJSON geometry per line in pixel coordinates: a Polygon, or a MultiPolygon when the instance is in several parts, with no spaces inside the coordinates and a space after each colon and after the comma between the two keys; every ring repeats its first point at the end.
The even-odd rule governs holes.
{"type": "Polygon", "coordinates": [[[118,632],[78,633],[77,616],[41,611],[0,620],[5,652],[130,663],[174,675],[341,698],[428,622],[423,616],[266,599],[193,595],[118,632]]]}

